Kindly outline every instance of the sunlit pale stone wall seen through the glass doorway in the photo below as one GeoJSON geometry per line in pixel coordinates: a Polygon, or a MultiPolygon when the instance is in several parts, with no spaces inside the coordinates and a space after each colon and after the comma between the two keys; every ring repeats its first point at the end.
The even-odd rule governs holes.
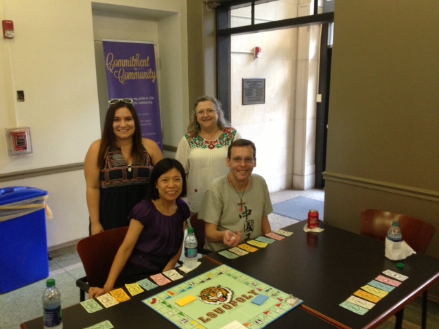
{"type": "MultiPolygon", "coordinates": [[[[256,7],[255,23],[313,10],[309,1],[294,0],[256,7]]],[[[233,27],[250,23],[249,7],[233,10],[233,15],[233,27]]],[[[314,186],[319,40],[318,25],[232,36],[232,124],[256,144],[255,172],[263,175],[270,191],[314,186]],[[262,48],[261,58],[254,58],[254,47],[262,48]],[[243,78],[265,79],[265,103],[242,105],[243,78]]]]}

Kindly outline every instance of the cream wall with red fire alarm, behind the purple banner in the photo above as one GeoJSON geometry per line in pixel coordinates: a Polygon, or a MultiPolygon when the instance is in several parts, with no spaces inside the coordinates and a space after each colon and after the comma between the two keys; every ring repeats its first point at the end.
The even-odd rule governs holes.
{"type": "Polygon", "coordinates": [[[49,192],[54,219],[47,223],[48,245],[56,247],[88,235],[80,163],[100,136],[94,38],[125,38],[124,25],[129,37],[152,37],[163,45],[161,53],[168,60],[161,60],[162,72],[167,73],[159,81],[162,120],[176,121],[170,131],[163,125],[163,142],[177,145],[188,120],[182,111],[188,99],[186,4],[180,0],[0,0],[0,16],[14,21],[16,32],[12,40],[0,39],[0,188],[32,186],[49,192]],[[108,17],[93,16],[92,6],[94,11],[108,12],[108,17]],[[16,90],[24,90],[24,102],[16,101],[16,90]],[[8,156],[3,131],[16,126],[31,128],[32,156],[8,156]],[[23,171],[78,163],[75,171],[10,180],[23,171]]]}

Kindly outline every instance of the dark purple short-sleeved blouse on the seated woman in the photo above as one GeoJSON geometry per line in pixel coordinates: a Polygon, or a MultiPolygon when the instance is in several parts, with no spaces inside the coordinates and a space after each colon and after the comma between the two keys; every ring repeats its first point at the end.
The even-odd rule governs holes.
{"type": "Polygon", "coordinates": [[[143,199],[131,210],[128,219],[137,219],[143,230],[137,240],[130,262],[161,272],[174,257],[183,242],[183,223],[190,210],[182,199],[177,199],[177,211],[172,216],[163,215],[150,199],[143,199]]]}

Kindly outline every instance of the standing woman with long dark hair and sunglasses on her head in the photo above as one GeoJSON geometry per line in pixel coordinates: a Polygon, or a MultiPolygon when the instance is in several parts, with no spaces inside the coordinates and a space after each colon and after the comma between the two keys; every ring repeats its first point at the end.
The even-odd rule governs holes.
{"type": "Polygon", "coordinates": [[[131,99],[112,99],[102,138],[84,160],[90,234],[128,226],[128,213],[146,195],[153,166],[163,159],[157,143],[142,138],[131,99]]]}

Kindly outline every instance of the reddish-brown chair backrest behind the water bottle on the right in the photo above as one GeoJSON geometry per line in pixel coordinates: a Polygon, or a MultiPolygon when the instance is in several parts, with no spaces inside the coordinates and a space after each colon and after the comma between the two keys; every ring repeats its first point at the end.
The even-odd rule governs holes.
{"type": "Polygon", "coordinates": [[[383,210],[363,210],[361,212],[361,235],[385,241],[393,221],[399,222],[399,227],[403,233],[403,240],[415,252],[424,254],[434,235],[434,226],[414,217],[383,210]]]}

